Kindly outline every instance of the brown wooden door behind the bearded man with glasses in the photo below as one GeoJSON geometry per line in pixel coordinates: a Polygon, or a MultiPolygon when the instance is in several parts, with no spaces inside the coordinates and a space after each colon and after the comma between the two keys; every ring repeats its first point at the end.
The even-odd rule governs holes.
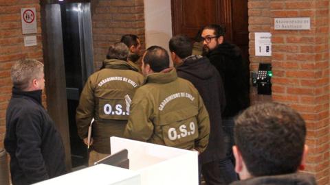
{"type": "Polygon", "coordinates": [[[225,40],[238,45],[248,61],[248,1],[171,0],[173,35],[195,38],[198,30],[212,23],[225,25],[225,40]]]}

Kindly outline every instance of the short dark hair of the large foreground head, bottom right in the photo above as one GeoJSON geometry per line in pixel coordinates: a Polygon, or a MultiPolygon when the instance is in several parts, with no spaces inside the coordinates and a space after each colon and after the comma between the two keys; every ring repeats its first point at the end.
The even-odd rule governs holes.
{"type": "Polygon", "coordinates": [[[235,119],[236,146],[253,176],[295,173],[305,137],[304,119],[281,103],[251,106],[235,119]]]}

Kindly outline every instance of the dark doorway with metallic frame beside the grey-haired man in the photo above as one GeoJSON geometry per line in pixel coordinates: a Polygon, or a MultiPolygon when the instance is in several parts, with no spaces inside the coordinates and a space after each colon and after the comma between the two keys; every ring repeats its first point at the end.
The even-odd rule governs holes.
{"type": "Polygon", "coordinates": [[[93,73],[90,3],[41,3],[47,108],[60,128],[70,167],[87,165],[87,148],[78,137],[76,107],[93,73]],[[62,128],[62,129],[61,129],[62,128]]]}

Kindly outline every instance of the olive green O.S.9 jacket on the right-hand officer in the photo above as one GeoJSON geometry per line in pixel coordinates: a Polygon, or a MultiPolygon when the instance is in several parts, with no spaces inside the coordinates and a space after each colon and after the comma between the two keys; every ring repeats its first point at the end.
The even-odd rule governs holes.
{"type": "Polygon", "coordinates": [[[186,79],[153,73],[136,90],[124,136],[148,143],[196,149],[208,145],[210,120],[197,89],[186,79]]]}

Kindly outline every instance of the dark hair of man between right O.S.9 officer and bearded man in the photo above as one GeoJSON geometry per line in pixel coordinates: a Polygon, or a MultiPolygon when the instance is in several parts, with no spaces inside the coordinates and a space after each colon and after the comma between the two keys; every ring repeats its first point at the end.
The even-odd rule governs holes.
{"type": "Polygon", "coordinates": [[[170,52],[184,59],[192,54],[192,42],[187,36],[173,36],[168,44],[170,52]]]}

